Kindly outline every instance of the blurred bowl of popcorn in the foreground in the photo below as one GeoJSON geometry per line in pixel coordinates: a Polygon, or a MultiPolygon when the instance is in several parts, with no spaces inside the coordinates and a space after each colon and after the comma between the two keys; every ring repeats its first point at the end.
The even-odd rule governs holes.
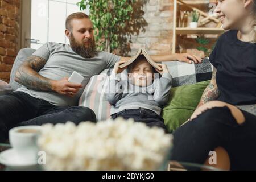
{"type": "Polygon", "coordinates": [[[46,170],[167,169],[172,135],[133,119],[43,125],[46,170]],[[164,168],[162,168],[164,166],[164,168]]]}

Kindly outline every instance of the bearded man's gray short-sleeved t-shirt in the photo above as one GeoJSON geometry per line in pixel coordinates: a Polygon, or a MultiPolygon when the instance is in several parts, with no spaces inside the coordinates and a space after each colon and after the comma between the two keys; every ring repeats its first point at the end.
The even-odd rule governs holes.
{"type": "Polygon", "coordinates": [[[44,67],[39,71],[39,74],[43,77],[51,80],[61,80],[64,77],[71,76],[73,71],[84,76],[83,87],[74,97],[64,96],[56,92],[35,91],[24,86],[17,90],[62,107],[77,106],[90,77],[98,75],[104,69],[113,68],[114,64],[121,59],[120,56],[104,51],[98,51],[96,56],[86,59],[74,52],[68,44],[52,42],[44,44],[32,55],[47,60],[44,67]]]}

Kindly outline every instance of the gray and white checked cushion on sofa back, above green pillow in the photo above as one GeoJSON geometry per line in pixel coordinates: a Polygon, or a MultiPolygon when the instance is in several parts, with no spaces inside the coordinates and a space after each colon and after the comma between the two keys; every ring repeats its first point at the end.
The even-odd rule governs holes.
{"type": "Polygon", "coordinates": [[[201,64],[180,63],[178,61],[166,62],[172,75],[172,87],[196,84],[197,82],[210,80],[213,65],[208,58],[201,64]]]}

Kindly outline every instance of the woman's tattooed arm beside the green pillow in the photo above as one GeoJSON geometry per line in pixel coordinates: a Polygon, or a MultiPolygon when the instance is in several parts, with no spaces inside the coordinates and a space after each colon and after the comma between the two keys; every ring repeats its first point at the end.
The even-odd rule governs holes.
{"type": "Polygon", "coordinates": [[[200,107],[209,101],[216,100],[218,96],[220,96],[220,90],[218,90],[218,86],[216,84],[216,72],[217,69],[214,67],[212,71],[212,80],[210,80],[210,84],[204,90],[204,93],[197,107],[200,107]]]}

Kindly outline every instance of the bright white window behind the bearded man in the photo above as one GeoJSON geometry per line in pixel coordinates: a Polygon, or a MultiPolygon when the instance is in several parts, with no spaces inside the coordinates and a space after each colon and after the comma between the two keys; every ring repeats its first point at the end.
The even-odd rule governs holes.
{"type": "MultiPolygon", "coordinates": [[[[79,0],[31,1],[31,48],[38,49],[46,42],[69,44],[65,36],[65,19],[80,11],[79,0]]],[[[89,15],[89,9],[83,11],[89,15]]]]}

